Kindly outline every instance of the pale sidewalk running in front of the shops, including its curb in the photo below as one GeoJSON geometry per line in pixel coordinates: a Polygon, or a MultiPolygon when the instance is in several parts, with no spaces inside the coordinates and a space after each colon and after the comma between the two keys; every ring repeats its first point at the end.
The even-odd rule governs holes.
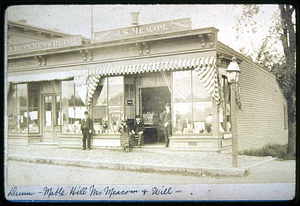
{"type": "Polygon", "coordinates": [[[81,150],[56,146],[9,146],[8,160],[43,164],[93,167],[140,172],[176,172],[187,175],[243,176],[254,166],[275,160],[272,157],[240,155],[232,168],[231,154],[179,152],[168,148],[143,150],[81,150]]]}

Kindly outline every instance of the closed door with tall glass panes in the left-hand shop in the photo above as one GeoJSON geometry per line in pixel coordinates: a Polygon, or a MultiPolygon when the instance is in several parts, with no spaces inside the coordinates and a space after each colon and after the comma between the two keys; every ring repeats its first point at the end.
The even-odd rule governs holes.
{"type": "Polygon", "coordinates": [[[43,104],[43,142],[57,143],[60,133],[60,96],[42,95],[43,104]]]}

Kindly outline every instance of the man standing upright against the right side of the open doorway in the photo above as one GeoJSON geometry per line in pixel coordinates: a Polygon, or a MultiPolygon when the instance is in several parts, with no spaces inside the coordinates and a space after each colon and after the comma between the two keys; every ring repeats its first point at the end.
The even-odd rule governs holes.
{"type": "Polygon", "coordinates": [[[169,103],[165,104],[165,110],[162,113],[160,113],[159,117],[164,127],[165,147],[168,147],[172,130],[171,107],[169,103]]]}

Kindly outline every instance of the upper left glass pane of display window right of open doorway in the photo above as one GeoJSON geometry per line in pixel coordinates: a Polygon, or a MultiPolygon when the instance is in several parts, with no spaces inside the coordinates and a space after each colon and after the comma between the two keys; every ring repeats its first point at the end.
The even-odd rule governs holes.
{"type": "Polygon", "coordinates": [[[191,101],[191,71],[173,73],[173,101],[191,101]]]}

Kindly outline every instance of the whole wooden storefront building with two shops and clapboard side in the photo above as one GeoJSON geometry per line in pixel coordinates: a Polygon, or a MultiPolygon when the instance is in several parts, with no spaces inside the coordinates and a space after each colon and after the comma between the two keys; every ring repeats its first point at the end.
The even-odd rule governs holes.
{"type": "Polygon", "coordinates": [[[98,32],[92,43],[64,36],[8,46],[8,143],[80,148],[88,110],[92,148],[119,148],[118,125],[135,115],[146,124],[144,145],[163,146],[158,116],[169,102],[170,149],[230,151],[232,56],[241,69],[239,150],[286,143],[286,100],[275,77],[217,33],[180,19],[98,32]]]}

